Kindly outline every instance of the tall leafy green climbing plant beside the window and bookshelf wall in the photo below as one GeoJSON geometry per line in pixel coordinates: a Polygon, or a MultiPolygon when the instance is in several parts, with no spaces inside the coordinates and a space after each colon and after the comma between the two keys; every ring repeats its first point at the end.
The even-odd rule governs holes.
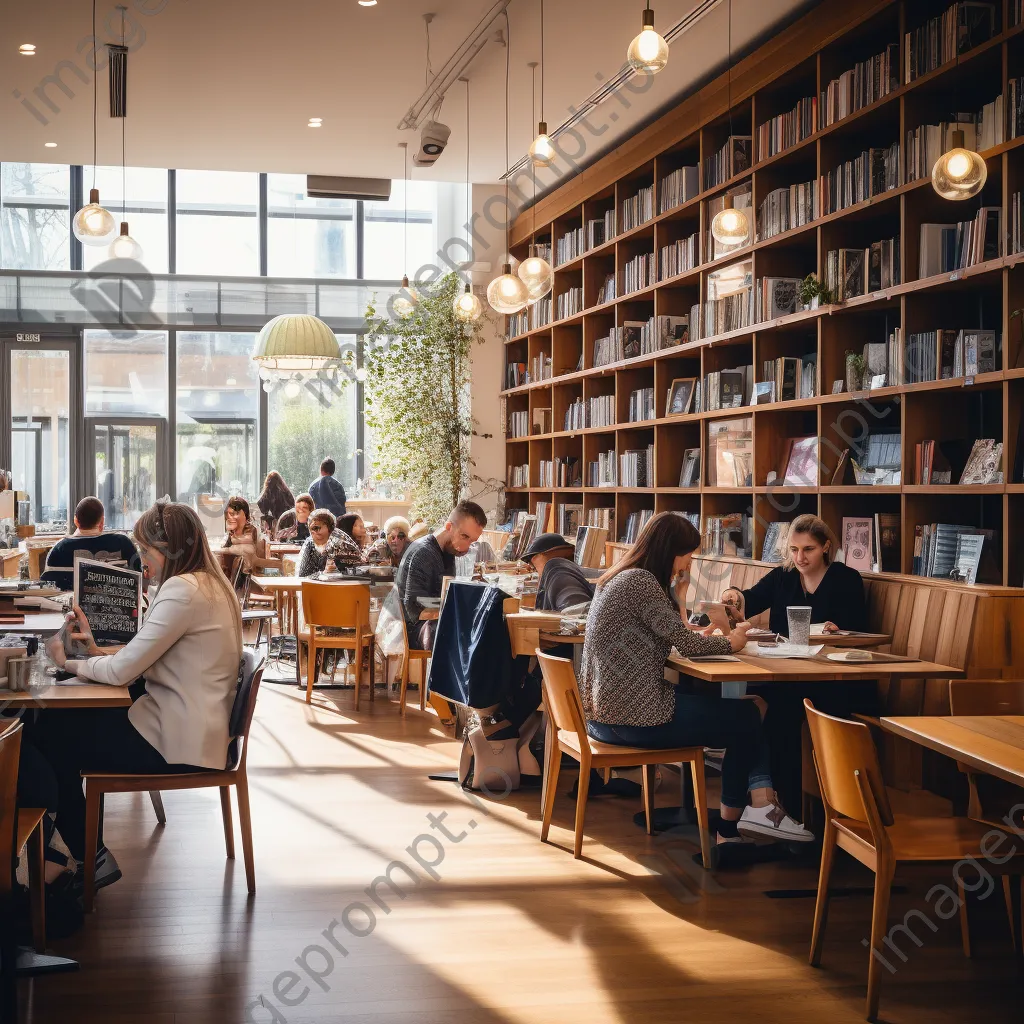
{"type": "Polygon", "coordinates": [[[481,325],[456,319],[452,303],[463,285],[442,278],[404,317],[367,308],[366,418],[375,432],[374,469],[406,487],[412,512],[443,522],[469,486],[470,355],[481,325]]]}

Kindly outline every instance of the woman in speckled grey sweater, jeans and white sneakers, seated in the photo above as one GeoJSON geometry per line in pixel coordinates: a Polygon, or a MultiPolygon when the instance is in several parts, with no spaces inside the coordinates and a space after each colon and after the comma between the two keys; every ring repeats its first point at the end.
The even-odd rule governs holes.
{"type": "Polygon", "coordinates": [[[775,801],[758,702],[688,693],[665,679],[673,647],[685,657],[728,654],[746,643],[746,623],[728,636],[686,624],[690,562],[699,546],[688,520],[662,512],[598,580],[580,678],[587,730],[599,742],[626,746],[724,748],[719,842],[809,842],[813,836],[775,801]]]}

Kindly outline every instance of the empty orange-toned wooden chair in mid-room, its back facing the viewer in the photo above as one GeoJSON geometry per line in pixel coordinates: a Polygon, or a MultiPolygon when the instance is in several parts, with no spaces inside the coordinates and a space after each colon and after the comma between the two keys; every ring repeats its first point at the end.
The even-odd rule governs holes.
{"type": "MultiPolygon", "coordinates": [[[[370,585],[365,583],[302,582],[302,614],[305,629],[299,645],[306,644],[306,703],[312,702],[316,681],[316,657],[322,650],[350,650],[355,658],[355,710],[359,710],[362,685],[362,652],[370,653],[370,699],[374,699],[374,650],[377,638],[370,627],[370,585]],[[330,636],[329,629],[345,630],[330,636]],[[319,632],[317,632],[319,631],[319,632]]],[[[300,668],[301,672],[301,668],[300,668]]]]}

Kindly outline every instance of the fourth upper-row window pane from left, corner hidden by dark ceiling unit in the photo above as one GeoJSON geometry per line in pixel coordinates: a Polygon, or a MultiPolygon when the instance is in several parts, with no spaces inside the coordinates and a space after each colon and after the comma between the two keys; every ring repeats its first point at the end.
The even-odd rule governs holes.
{"type": "Polygon", "coordinates": [[[271,278],[355,278],[355,203],[309,199],[304,174],[267,175],[271,278]]]}

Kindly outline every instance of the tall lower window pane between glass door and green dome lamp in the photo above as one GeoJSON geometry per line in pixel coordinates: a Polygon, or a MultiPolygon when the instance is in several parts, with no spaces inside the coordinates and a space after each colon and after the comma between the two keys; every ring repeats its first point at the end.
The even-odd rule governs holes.
{"type": "Polygon", "coordinates": [[[177,335],[178,501],[259,492],[259,376],[255,335],[177,335]]]}

